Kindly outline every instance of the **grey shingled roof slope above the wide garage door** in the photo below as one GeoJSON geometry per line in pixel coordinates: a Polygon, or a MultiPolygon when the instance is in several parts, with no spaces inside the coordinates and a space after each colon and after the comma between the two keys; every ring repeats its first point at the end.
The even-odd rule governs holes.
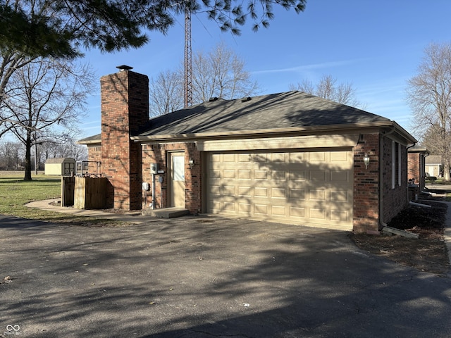
{"type": "Polygon", "coordinates": [[[388,123],[390,120],[295,91],[245,99],[210,100],[153,118],[149,129],[140,137],[377,122],[388,123]]]}

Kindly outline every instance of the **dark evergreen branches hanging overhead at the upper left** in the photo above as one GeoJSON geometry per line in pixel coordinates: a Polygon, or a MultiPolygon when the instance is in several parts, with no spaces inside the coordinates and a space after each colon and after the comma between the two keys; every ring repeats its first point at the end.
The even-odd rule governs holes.
{"type": "Polygon", "coordinates": [[[296,13],[307,0],[0,0],[0,49],[26,56],[75,58],[80,47],[101,51],[140,48],[149,32],[166,34],[175,15],[190,10],[206,13],[223,31],[240,34],[252,21],[252,30],[268,27],[273,6],[296,13]],[[256,6],[259,4],[260,6],[256,6]],[[247,11],[243,10],[243,5],[247,11]],[[257,7],[259,9],[257,9],[257,7]]]}

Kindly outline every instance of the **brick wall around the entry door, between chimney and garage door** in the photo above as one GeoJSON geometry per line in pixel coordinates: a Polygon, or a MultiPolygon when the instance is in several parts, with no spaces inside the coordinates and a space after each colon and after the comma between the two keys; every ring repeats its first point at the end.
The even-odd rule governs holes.
{"type": "Polygon", "coordinates": [[[150,173],[150,163],[158,163],[159,170],[164,170],[164,174],[156,175],[155,185],[155,207],[166,208],[169,206],[168,199],[168,156],[172,151],[185,152],[185,208],[190,213],[202,212],[202,156],[194,143],[174,143],[174,144],[143,144],[142,145],[142,179],[143,182],[151,184],[151,191],[144,192],[144,206],[149,208],[152,203],[152,175],[150,173]],[[192,168],[189,160],[194,161],[192,168]],[[159,183],[158,177],[163,177],[163,183],[159,183]]]}

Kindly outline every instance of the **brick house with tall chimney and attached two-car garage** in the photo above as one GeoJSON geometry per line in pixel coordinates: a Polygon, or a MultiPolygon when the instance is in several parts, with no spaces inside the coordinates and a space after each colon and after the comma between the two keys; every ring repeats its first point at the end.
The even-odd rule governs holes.
{"type": "Polygon", "coordinates": [[[153,199],[192,214],[376,233],[407,206],[416,139],[392,120],[302,92],[211,99],[149,120],[148,83],[130,70],[101,77],[101,134],[79,142],[109,177],[109,207],[153,199]]]}

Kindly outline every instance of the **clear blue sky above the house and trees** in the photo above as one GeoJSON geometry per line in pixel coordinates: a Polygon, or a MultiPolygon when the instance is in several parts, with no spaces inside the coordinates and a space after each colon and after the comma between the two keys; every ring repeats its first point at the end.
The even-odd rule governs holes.
{"type": "MultiPolygon", "coordinates": [[[[407,80],[416,75],[431,42],[451,42],[450,0],[308,0],[304,12],[274,8],[268,29],[242,35],[223,33],[206,15],[192,15],[192,52],[208,52],[218,42],[246,63],[261,94],[287,92],[303,79],[313,83],[323,75],[351,83],[366,111],[395,120],[412,130],[412,112],[405,102],[407,80]]],[[[168,34],[149,32],[141,49],[115,54],[87,51],[84,61],[96,77],[116,73],[116,65],[130,65],[137,73],[156,77],[183,62],[183,17],[168,34]]],[[[100,95],[88,99],[83,137],[100,132],[100,95]]]]}

